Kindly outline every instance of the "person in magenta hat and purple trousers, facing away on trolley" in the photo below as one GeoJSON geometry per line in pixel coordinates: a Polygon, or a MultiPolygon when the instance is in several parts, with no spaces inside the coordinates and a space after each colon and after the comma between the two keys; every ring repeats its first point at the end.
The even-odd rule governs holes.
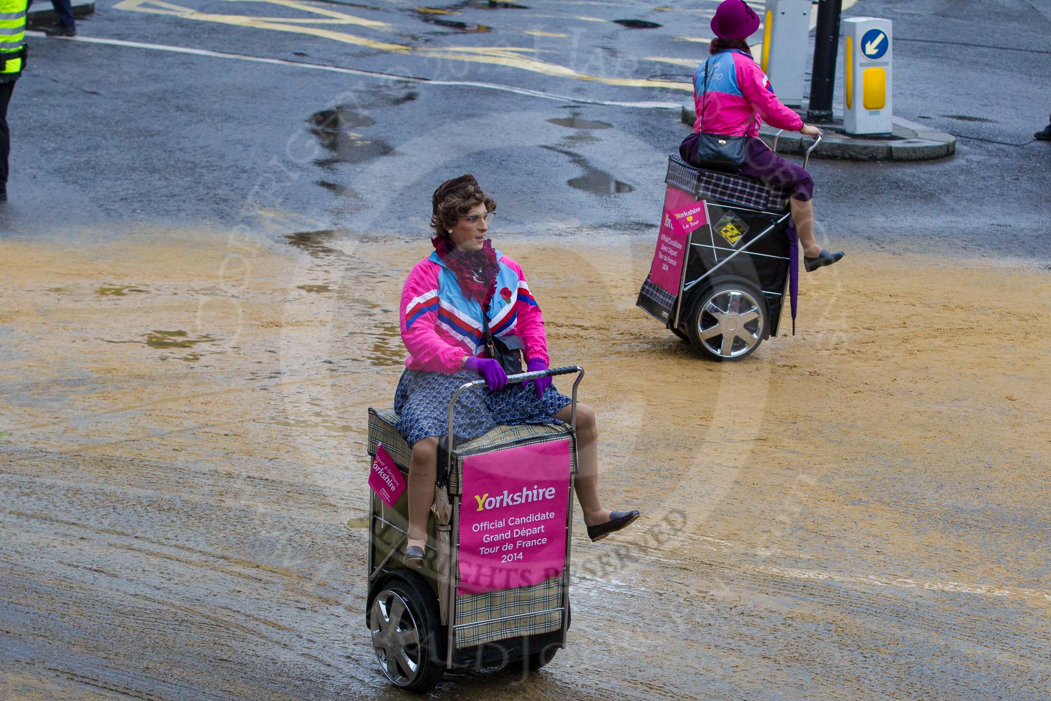
{"type": "MultiPolygon", "coordinates": [[[[766,74],[751,57],[745,39],[759,28],[759,16],[744,0],[724,0],[712,18],[716,39],[709,56],[694,73],[694,104],[697,121],[694,133],[679,146],[686,163],[704,167],[697,160],[698,135],[703,122],[705,133],[746,137],[745,161],[741,174],[756,178],[768,186],[790,191],[791,220],[803,247],[803,263],[810,272],[843,257],[843,251],[829,253],[813,238],[813,179],[803,168],[775,153],[759,138],[761,121],[788,131],[800,131],[817,139],[818,127],[804,124],[799,115],[778,100],[766,74]],[[705,85],[706,75],[706,85],[705,85]]],[[[800,47],[802,50],[802,47],[800,47]]]]}

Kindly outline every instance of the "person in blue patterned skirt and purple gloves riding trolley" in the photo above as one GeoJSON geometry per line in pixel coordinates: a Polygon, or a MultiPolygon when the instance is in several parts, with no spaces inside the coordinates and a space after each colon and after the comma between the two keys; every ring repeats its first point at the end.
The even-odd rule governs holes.
{"type": "MultiPolygon", "coordinates": [[[[504,424],[570,421],[570,397],[551,377],[508,385],[499,362],[485,357],[482,314],[495,337],[517,335],[527,371],[548,369],[543,315],[521,267],[488,238],[496,203],[473,176],[447,180],[431,199],[434,252],[416,264],[401,290],[401,339],[409,351],[394,395],[397,430],[412,448],[409,463],[409,541],[406,566],[419,569],[434,500],[438,438],[449,432],[449,401],[457,388],[486,379],[489,391],[463,392],[454,433],[476,438],[504,424]]],[[[637,511],[611,512],[598,497],[595,412],[577,404],[577,498],[592,540],[619,531],[637,511]]]]}

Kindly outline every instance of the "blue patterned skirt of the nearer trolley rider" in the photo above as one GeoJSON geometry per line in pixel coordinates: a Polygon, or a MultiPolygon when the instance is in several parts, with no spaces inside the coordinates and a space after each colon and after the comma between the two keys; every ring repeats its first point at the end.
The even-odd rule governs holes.
{"type": "MultiPolygon", "coordinates": [[[[420,438],[449,433],[449,400],[466,383],[479,379],[477,373],[406,370],[394,393],[397,431],[412,446],[420,438]]],[[[453,435],[457,440],[477,438],[492,428],[515,424],[558,422],[554,416],[571,404],[570,397],[558,393],[552,385],[536,396],[533,383],[509,385],[502,390],[467,390],[456,400],[453,435]]]]}

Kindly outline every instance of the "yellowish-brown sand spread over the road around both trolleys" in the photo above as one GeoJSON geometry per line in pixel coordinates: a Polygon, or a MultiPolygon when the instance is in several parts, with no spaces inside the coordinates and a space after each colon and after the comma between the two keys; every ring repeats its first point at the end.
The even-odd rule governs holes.
{"type": "MultiPolygon", "coordinates": [[[[580,398],[599,415],[604,500],[645,514],[619,541],[632,555],[614,579],[695,601],[715,591],[712,566],[731,568],[745,600],[770,581],[955,591],[1001,597],[1040,625],[1051,606],[1046,270],[851,250],[802,275],[795,336],[715,364],[635,306],[652,236],[497,245],[529,276],[553,365],[586,369],[580,398]],[[662,522],[674,533],[658,535],[662,522]]],[[[137,490],[241,513],[246,530],[359,519],[366,408],[392,404],[400,286],[429,250],[339,232],[279,244],[187,231],[0,241],[2,469],[77,456],[82,473],[61,489],[105,483],[115,501],[58,516],[105,528],[132,518],[137,490]],[[142,460],[187,469],[190,481],[121,467],[142,460]]],[[[42,513],[39,498],[11,508],[42,513]]],[[[214,552],[238,555],[236,534],[209,529],[200,533],[214,552]]],[[[612,576],[596,552],[575,553],[585,593],[612,576]]],[[[260,566],[296,571],[280,557],[260,566]]],[[[358,605],[352,575],[327,579],[363,590],[358,605]]],[[[586,632],[580,616],[575,606],[574,630],[586,632]]],[[[1019,679],[1026,669],[1018,662],[1019,679]]]]}

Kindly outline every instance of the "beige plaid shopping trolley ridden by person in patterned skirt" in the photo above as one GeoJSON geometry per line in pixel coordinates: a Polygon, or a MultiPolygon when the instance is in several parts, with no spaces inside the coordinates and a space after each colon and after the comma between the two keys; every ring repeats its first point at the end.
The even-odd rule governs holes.
{"type": "MultiPolygon", "coordinates": [[[[512,380],[524,382],[542,374],[577,373],[573,386],[574,416],[577,385],[583,376],[579,368],[561,368],[545,372],[512,375],[512,380]]],[[[460,391],[472,391],[479,383],[471,383],[460,391]]],[[[453,397],[455,404],[456,395],[453,397]]],[[[408,466],[412,457],[411,449],[396,430],[397,415],[390,409],[369,409],[368,452],[375,458],[380,447],[392,458],[397,469],[408,481],[408,466]]],[[[426,690],[440,678],[445,668],[480,668],[521,664],[527,669],[536,669],[554,657],[555,652],[565,643],[565,633],[570,624],[570,538],[573,506],[573,480],[577,472],[576,433],[573,426],[564,424],[498,426],[485,435],[470,441],[454,444],[451,452],[446,450],[448,436],[442,438],[438,455],[438,484],[432,518],[428,524],[428,548],[425,566],[420,572],[405,570],[401,559],[405,554],[408,532],[408,498],[403,495],[392,507],[388,507],[375,494],[371,494],[369,518],[369,597],[366,619],[373,635],[373,646],[380,666],[388,678],[399,686],[411,690],[426,690]],[[497,513],[499,499],[513,502],[519,494],[527,496],[540,493],[534,489],[537,480],[535,472],[523,468],[523,453],[553,453],[561,459],[548,462],[544,470],[549,474],[560,475],[564,482],[558,496],[559,508],[545,510],[542,516],[556,516],[545,525],[530,520],[524,525],[510,525],[503,520],[492,518],[481,523],[497,524],[492,531],[472,529],[480,516],[486,516],[483,507],[492,502],[497,513]],[[514,484],[512,489],[497,491],[486,489],[485,499],[479,490],[473,489],[474,465],[482,466],[489,478],[514,484]],[[518,480],[517,482],[515,480],[518,480]],[[522,481],[524,479],[524,481],[522,481]],[[519,482],[524,488],[519,488],[519,482]],[[528,483],[527,483],[528,482],[528,483]],[[465,492],[468,490],[468,493],[465,492]],[[562,518],[564,517],[564,519],[562,518]],[[554,522],[555,525],[550,525],[554,522]],[[461,534],[461,528],[467,529],[461,534]],[[520,562],[512,559],[512,564],[478,565],[477,548],[469,552],[468,540],[485,538],[481,544],[489,557],[499,557],[501,549],[511,551],[504,557],[514,558],[514,547],[533,543],[533,532],[540,532],[556,540],[564,534],[564,545],[557,542],[551,549],[560,549],[553,568],[543,570],[536,576],[526,576],[520,562]],[[564,529],[564,531],[562,531],[564,529]],[[530,536],[513,536],[515,533],[530,536]],[[479,537],[479,533],[481,536],[479,537]],[[503,539],[503,536],[510,536],[503,539]],[[463,537],[461,537],[463,536],[463,537]],[[392,584],[394,582],[394,584],[392,584]],[[396,585],[395,585],[396,584],[396,585]],[[414,590],[412,596],[403,596],[406,587],[414,590]],[[478,591],[486,590],[486,591],[478,591]],[[389,611],[403,606],[396,599],[406,599],[405,610],[389,611]],[[419,611],[413,611],[413,609],[419,611]],[[416,627],[416,642],[392,651],[386,639],[384,625],[394,625],[385,620],[397,615],[398,635],[400,631],[416,627]],[[408,647],[408,648],[405,648],[408,647]],[[405,657],[400,657],[404,653],[405,657]],[[428,679],[426,677],[430,676],[428,679]]],[[[545,458],[550,459],[550,458],[545,458]]],[[[553,489],[553,488],[552,488],[553,489]]],[[[538,502],[539,503],[539,502],[538,502]]],[[[529,504],[532,506],[532,504],[529,504]]],[[[545,508],[544,508],[545,509],[545,508]]],[[[508,519],[513,520],[513,519],[508,519]]],[[[529,517],[519,520],[529,520],[529,517]]],[[[529,547],[526,548],[528,553],[529,547]]],[[[412,636],[410,636],[412,637],[412,636]]]]}

